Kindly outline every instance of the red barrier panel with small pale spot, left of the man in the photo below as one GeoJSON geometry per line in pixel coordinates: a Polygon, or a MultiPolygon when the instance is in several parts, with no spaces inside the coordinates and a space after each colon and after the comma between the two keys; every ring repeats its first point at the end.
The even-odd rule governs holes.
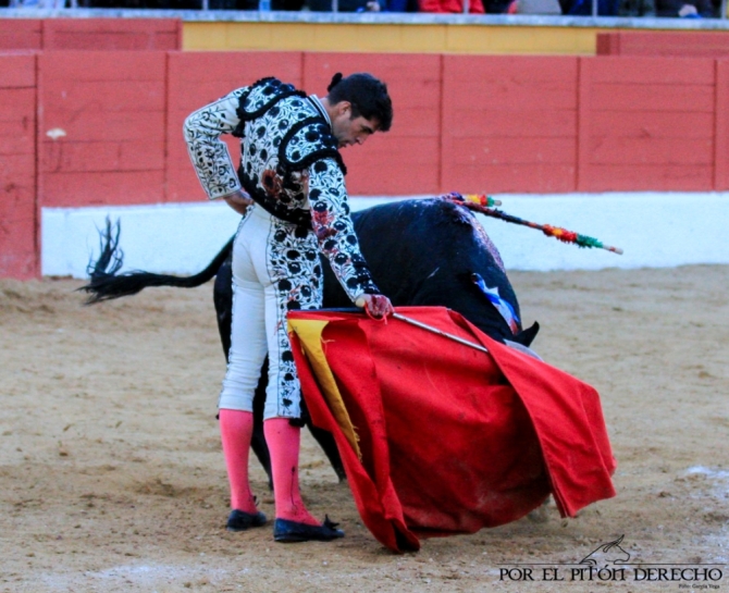
{"type": "Polygon", "coordinates": [[[166,53],[47,51],[39,69],[40,205],[160,201],[166,53]]]}

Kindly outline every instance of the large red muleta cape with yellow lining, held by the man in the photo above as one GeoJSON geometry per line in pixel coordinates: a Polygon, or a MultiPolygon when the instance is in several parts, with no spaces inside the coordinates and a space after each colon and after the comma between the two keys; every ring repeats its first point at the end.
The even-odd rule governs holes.
{"type": "Polygon", "coordinates": [[[515,521],[554,495],[563,517],[615,496],[597,392],[491,339],[455,311],[400,320],[291,311],[313,423],[333,433],[362,521],[397,552],[515,521]]]}

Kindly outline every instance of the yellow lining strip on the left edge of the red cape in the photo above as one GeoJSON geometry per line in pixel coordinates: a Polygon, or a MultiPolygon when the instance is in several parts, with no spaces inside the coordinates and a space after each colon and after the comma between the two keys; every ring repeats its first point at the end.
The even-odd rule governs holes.
{"type": "Polygon", "coordinates": [[[330,369],[329,362],[326,362],[326,355],[324,355],[321,334],[328,323],[329,321],[289,319],[288,331],[295,332],[298,336],[299,342],[301,343],[301,349],[313,369],[319,387],[326,399],[326,404],[329,405],[336,423],[347,437],[351,448],[355,449],[357,457],[361,459],[362,455],[359,450],[355,427],[353,425],[349,413],[347,413],[347,408],[342,400],[342,394],[336,386],[332,369],[330,369]]]}

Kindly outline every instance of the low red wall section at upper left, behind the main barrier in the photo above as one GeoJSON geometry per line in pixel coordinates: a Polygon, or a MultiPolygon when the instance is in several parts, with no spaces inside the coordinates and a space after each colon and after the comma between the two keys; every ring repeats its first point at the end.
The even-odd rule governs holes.
{"type": "Polygon", "coordinates": [[[0,18],[0,50],[178,50],[178,18],[0,18]]]}

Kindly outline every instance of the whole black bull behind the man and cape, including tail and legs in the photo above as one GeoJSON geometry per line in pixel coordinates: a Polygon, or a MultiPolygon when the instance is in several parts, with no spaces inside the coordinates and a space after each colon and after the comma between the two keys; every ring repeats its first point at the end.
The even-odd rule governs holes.
{"type": "MultiPolygon", "coordinates": [[[[444,199],[404,200],[353,213],[355,230],[372,275],[395,307],[405,305],[443,306],[461,313],[489,336],[501,342],[508,339],[529,346],[539,325],[515,335],[497,309],[473,282],[479,274],[490,287],[497,287],[517,317],[519,302],[511,283],[487,247],[485,232],[473,214],[462,206],[444,199]]],[[[148,286],[191,287],[215,275],[214,304],[218,328],[227,357],[231,346],[232,239],[202,272],[188,277],[147,272],[115,275],[121,261],[114,260],[115,243],[108,234],[108,245],[99,260],[90,267],[90,283],[83,287],[97,302],[136,294],[148,286]]],[[[325,308],[351,307],[325,258],[325,308]]],[[[263,438],[263,401],[265,397],[267,363],[261,372],[254,399],[255,433],[251,446],[263,468],[271,475],[270,457],[263,438]]],[[[313,436],[330,458],[332,467],[344,479],[344,468],[331,434],[307,422],[313,436]]]]}

